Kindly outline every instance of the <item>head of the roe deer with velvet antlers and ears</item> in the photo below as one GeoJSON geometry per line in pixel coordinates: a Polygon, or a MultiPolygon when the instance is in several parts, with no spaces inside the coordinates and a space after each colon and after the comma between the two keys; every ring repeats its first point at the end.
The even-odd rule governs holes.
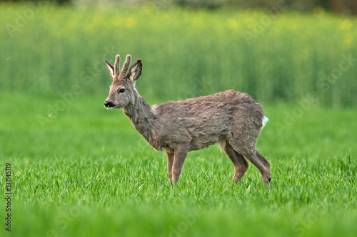
{"type": "Polygon", "coordinates": [[[111,110],[114,108],[123,108],[130,104],[134,105],[136,93],[135,81],[138,80],[141,75],[141,60],[137,60],[136,63],[131,66],[127,74],[126,71],[131,63],[131,56],[129,54],[126,56],[125,63],[121,70],[119,69],[119,54],[116,55],[114,66],[107,61],[105,62],[113,83],[111,83],[109,88],[109,95],[104,102],[104,106],[108,110],[111,110]]]}

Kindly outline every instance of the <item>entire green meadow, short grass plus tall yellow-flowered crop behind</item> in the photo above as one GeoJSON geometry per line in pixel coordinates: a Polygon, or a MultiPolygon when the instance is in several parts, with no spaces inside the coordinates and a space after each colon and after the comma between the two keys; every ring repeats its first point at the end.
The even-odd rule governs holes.
{"type": "Polygon", "coordinates": [[[357,20],[267,16],[2,4],[0,235],[356,236],[357,20]],[[216,145],[169,184],[166,154],[104,109],[116,53],[143,60],[136,88],[150,104],[252,95],[269,117],[258,149],[271,184],[250,164],[231,185],[216,145]]]}

